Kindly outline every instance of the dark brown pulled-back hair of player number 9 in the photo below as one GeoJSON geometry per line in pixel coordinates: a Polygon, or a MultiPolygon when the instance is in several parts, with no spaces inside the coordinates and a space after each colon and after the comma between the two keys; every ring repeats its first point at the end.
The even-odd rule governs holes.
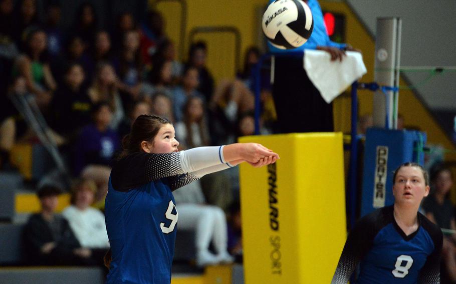
{"type": "Polygon", "coordinates": [[[118,158],[120,159],[131,153],[141,151],[141,142],[152,142],[157,135],[158,130],[165,124],[172,123],[168,119],[157,115],[139,115],[131,126],[131,132],[122,139],[123,150],[118,158]]]}

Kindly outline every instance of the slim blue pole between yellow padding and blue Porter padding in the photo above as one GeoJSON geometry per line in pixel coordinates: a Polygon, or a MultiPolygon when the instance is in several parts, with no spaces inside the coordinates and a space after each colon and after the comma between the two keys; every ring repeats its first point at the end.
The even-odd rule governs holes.
{"type": "Polygon", "coordinates": [[[356,185],[357,185],[357,168],[358,168],[358,82],[354,81],[351,85],[351,143],[350,143],[350,172],[348,179],[349,188],[349,211],[350,211],[350,228],[356,221],[356,185]]]}

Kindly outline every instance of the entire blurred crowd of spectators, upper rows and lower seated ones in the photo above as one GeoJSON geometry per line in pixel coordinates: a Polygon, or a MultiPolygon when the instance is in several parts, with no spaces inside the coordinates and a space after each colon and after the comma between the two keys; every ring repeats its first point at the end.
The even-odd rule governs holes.
{"type": "MultiPolygon", "coordinates": [[[[244,70],[236,78],[216,84],[206,64],[205,42],[192,42],[186,62],[179,61],[158,11],[148,11],[144,22],[123,11],[112,30],[100,28],[99,15],[89,2],[80,5],[68,30],[61,27],[61,6],[55,2],[45,7],[45,20],[39,18],[36,0],[19,0],[16,5],[13,0],[0,0],[0,169],[11,167],[15,143],[37,141],[25,114],[16,110],[11,98],[32,99],[57,141],[71,177],[82,181],[73,188],[65,218],[55,214],[60,190],[52,185],[40,189],[43,211],[33,215],[26,226],[27,251],[37,258],[31,258],[37,264],[90,264],[93,255],[106,249],[107,239],[100,234],[96,239],[89,237],[84,226],[94,227],[90,222],[101,219],[99,211],[88,206],[103,209],[110,163],[134,119],[144,113],[170,119],[181,149],[232,143],[240,135],[253,134],[251,75],[261,54],[258,48],[250,48],[244,70]],[[42,235],[43,230],[47,235],[42,235]]],[[[273,121],[268,86],[263,88],[262,101],[270,106],[265,117],[273,121]]],[[[262,129],[271,131],[266,126],[262,129]]],[[[188,196],[192,194],[189,190],[188,200],[198,202],[181,202],[192,208],[207,202],[206,210],[219,215],[212,225],[205,224],[210,227],[205,232],[197,232],[216,236],[218,258],[209,257],[210,239],[197,240],[199,254],[206,256],[200,257],[201,264],[232,260],[227,254],[224,212],[237,199],[239,184],[232,182],[237,175],[233,169],[203,179],[196,191],[208,195],[199,199],[188,196]]]]}

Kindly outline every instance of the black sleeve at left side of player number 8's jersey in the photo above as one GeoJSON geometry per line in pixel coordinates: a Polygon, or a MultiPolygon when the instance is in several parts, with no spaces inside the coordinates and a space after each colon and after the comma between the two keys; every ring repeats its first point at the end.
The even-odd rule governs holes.
{"type": "Polygon", "coordinates": [[[389,219],[388,207],[383,207],[356,222],[348,234],[331,284],[347,284],[359,261],[371,249],[375,236],[389,219]]]}

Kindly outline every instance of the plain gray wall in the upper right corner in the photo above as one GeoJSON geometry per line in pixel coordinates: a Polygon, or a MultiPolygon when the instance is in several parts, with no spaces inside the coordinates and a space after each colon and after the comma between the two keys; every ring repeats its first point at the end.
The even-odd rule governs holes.
{"type": "MultiPolygon", "coordinates": [[[[402,19],[401,66],[456,66],[455,0],[346,0],[375,36],[376,18],[402,19]]],[[[426,83],[425,72],[402,73],[431,109],[456,110],[456,72],[445,72],[426,83]]],[[[399,91],[400,95],[400,91],[399,91]]]]}

